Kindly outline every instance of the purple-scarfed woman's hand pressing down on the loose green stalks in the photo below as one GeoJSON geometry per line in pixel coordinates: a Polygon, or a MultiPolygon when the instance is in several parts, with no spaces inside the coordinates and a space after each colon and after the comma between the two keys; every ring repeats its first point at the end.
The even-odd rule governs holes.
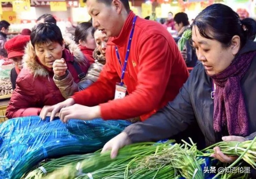
{"type": "Polygon", "coordinates": [[[117,156],[118,150],[121,149],[122,147],[124,147],[125,145],[129,145],[131,144],[131,140],[129,139],[127,133],[122,132],[119,135],[115,136],[114,138],[112,138],[110,141],[108,141],[101,153],[106,152],[107,150],[111,150],[111,154],[110,157],[113,159],[117,156]]]}

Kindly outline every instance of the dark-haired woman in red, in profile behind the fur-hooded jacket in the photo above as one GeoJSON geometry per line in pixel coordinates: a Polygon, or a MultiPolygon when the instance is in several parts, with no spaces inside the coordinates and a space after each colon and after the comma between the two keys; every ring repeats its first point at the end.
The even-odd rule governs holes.
{"type": "Polygon", "coordinates": [[[75,30],[75,42],[79,45],[90,64],[94,63],[93,51],[96,48],[94,40],[94,27],[90,22],[81,22],[75,30]]]}

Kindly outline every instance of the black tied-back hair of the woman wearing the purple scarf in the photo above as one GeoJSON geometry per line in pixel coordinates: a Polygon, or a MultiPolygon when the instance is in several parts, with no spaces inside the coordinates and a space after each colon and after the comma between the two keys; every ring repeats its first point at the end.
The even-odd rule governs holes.
{"type": "Polygon", "coordinates": [[[241,47],[247,40],[254,40],[256,21],[252,18],[239,19],[239,15],[224,4],[213,4],[196,16],[192,23],[204,38],[215,39],[223,47],[229,47],[234,35],[241,40],[241,47]]]}

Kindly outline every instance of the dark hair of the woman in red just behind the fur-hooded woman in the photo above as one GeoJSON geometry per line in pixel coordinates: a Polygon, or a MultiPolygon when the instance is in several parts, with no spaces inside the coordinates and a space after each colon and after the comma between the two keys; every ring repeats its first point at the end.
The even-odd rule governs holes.
{"type": "Polygon", "coordinates": [[[76,27],[74,41],[77,44],[79,43],[79,40],[85,41],[89,34],[92,34],[92,36],[94,36],[94,31],[95,29],[91,22],[81,22],[76,27]]]}

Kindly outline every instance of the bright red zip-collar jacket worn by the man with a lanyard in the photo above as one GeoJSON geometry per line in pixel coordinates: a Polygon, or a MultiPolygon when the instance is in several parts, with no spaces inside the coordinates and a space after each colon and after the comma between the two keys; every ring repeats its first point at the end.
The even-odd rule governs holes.
{"type": "Polygon", "coordinates": [[[98,81],[72,97],[78,104],[100,104],[103,119],[128,119],[141,115],[141,120],[145,120],[173,100],[188,78],[186,64],[168,31],[158,22],[137,17],[124,76],[129,95],[112,100],[115,84],[120,82],[121,76],[115,45],[124,64],[134,16],[130,12],[119,36],[109,40],[107,63],[98,81]]]}

